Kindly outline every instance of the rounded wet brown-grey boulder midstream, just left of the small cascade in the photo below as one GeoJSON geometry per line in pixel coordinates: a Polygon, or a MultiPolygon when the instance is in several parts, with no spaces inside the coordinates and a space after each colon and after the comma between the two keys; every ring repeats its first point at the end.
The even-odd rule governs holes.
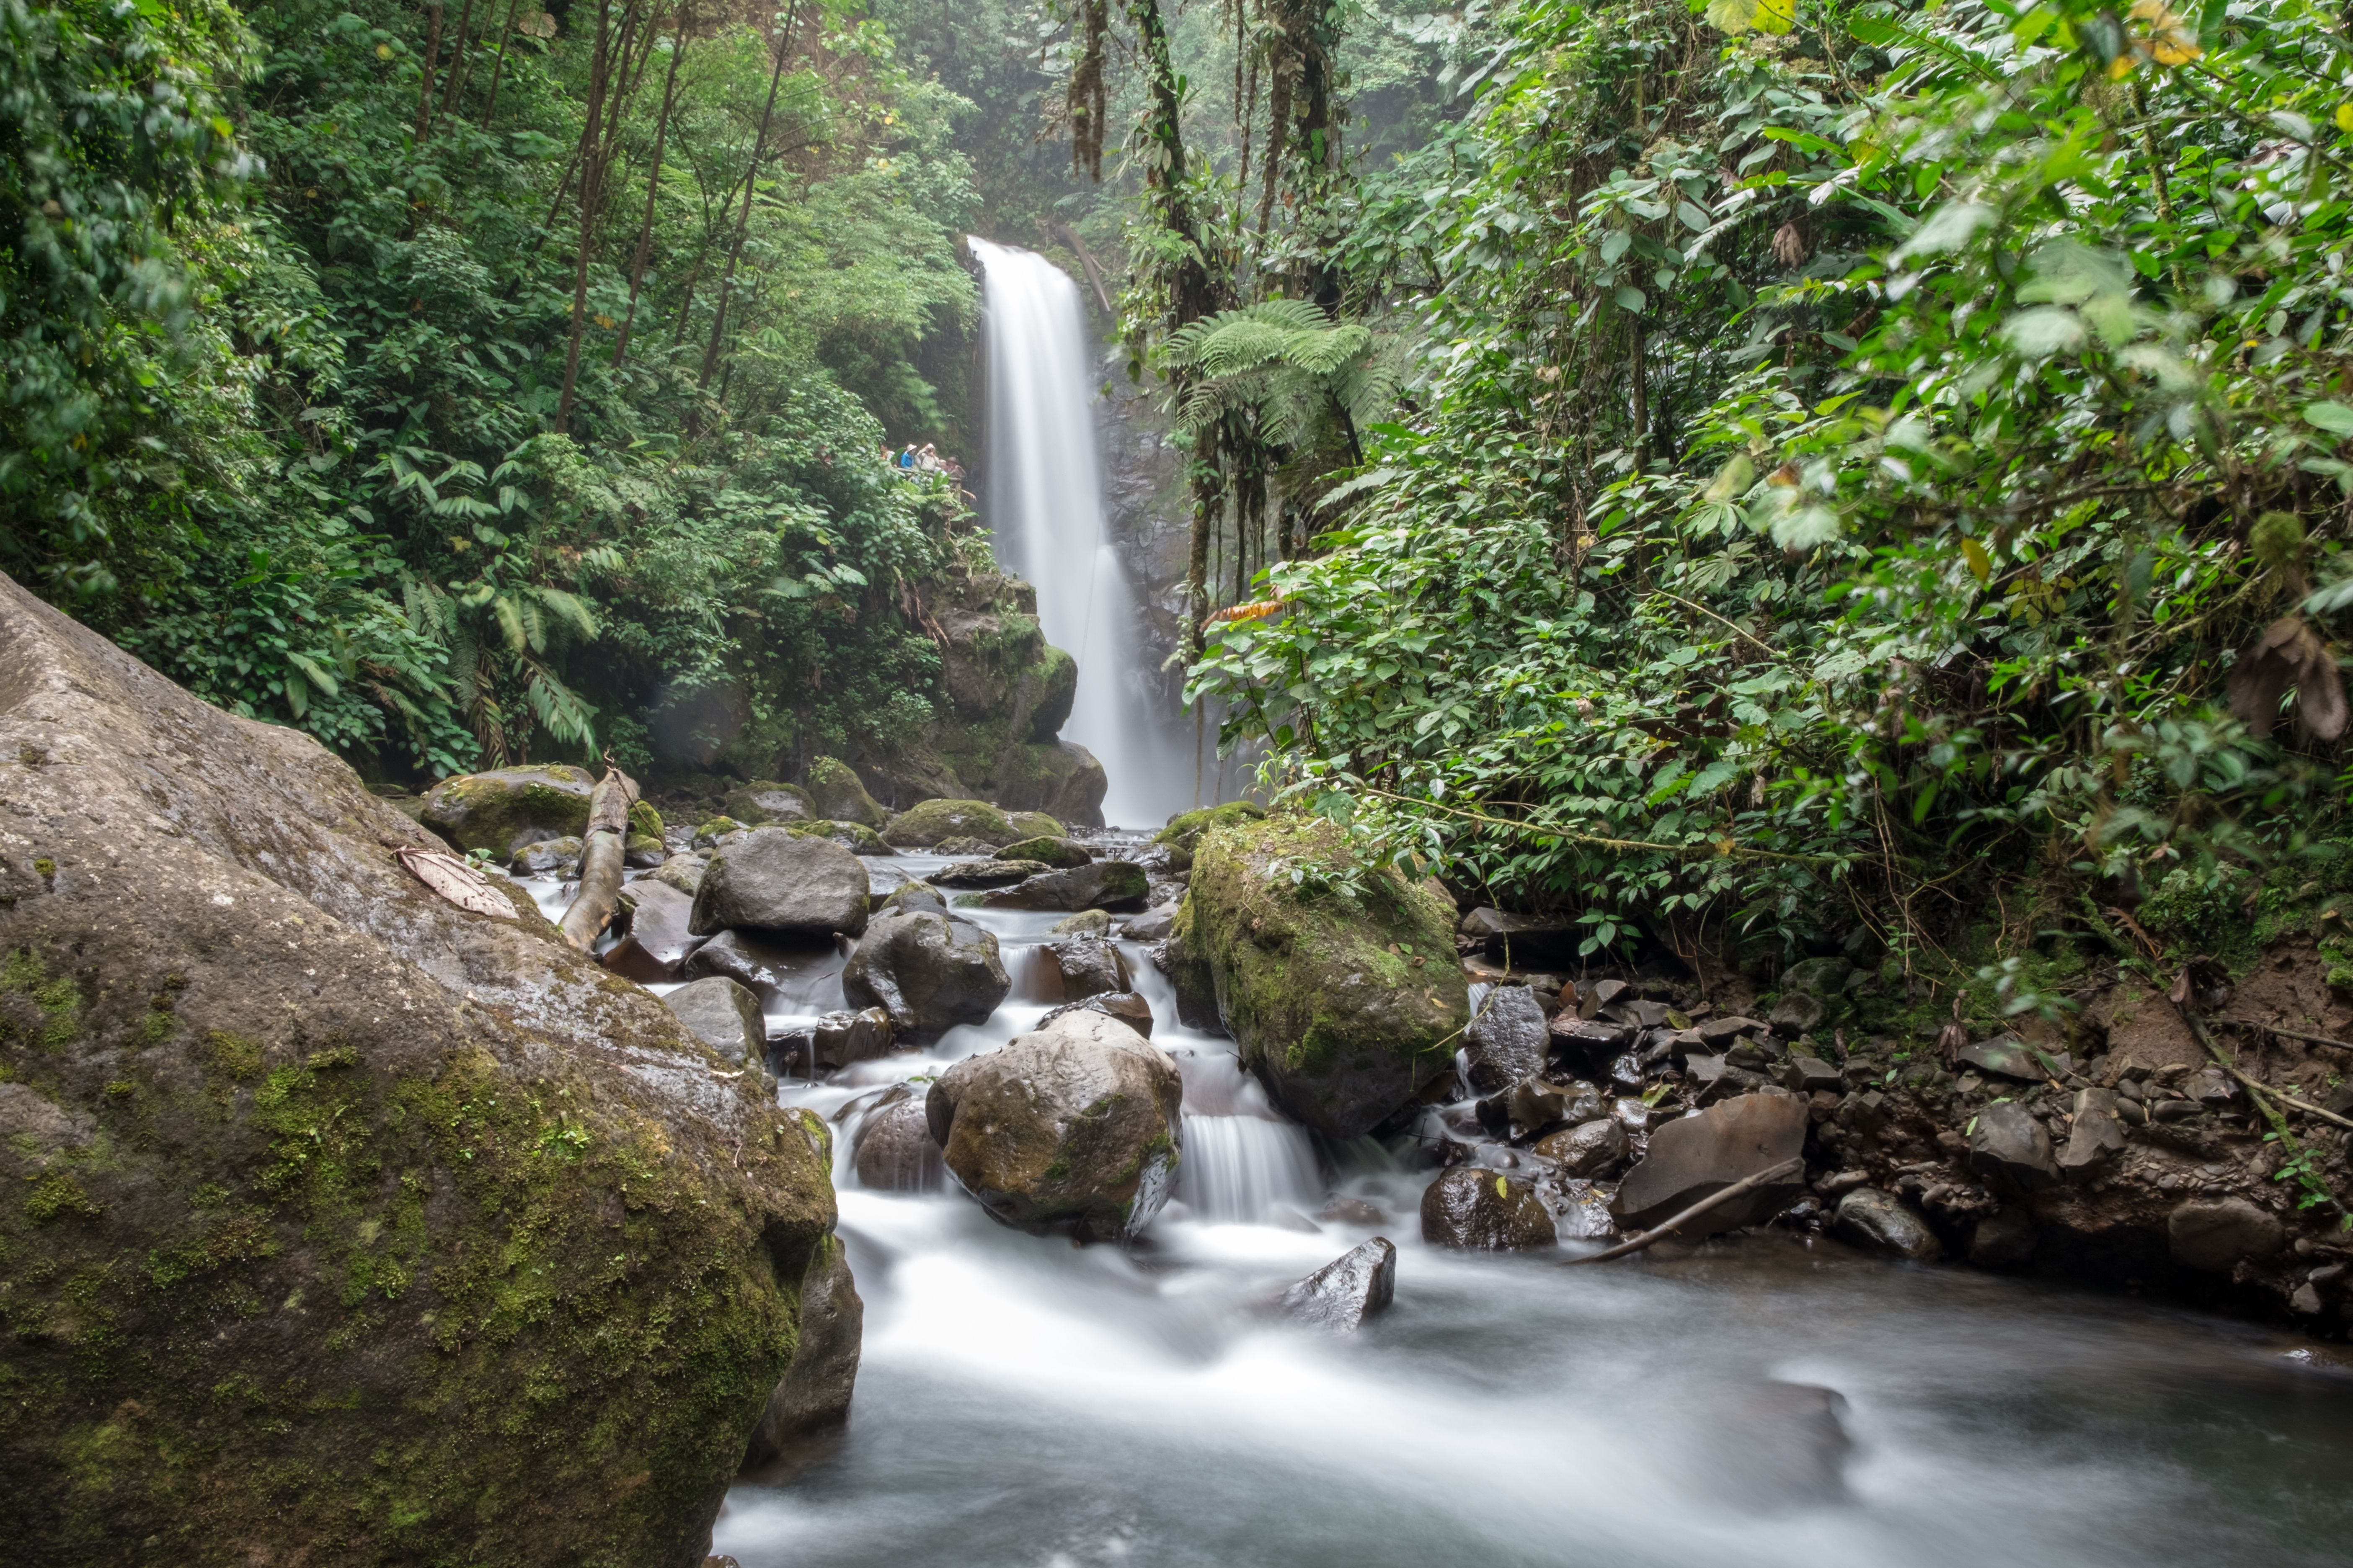
{"type": "Polygon", "coordinates": [[[951,1065],[925,1100],[958,1185],[1002,1225],[1125,1241],[1176,1187],[1176,1063],[1085,1009],[951,1065]]]}

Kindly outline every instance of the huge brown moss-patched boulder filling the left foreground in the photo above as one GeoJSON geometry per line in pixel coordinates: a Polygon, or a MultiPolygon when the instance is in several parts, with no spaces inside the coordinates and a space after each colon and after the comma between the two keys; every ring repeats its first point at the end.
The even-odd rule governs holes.
{"type": "Polygon", "coordinates": [[[824,1124],[7,578],[0,823],[9,1561],[701,1563],[824,1124]]]}

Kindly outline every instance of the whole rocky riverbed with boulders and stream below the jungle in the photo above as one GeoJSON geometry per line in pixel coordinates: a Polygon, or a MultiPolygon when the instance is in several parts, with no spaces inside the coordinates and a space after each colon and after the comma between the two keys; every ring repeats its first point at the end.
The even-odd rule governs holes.
{"type": "Polygon", "coordinates": [[[1546,969],[1558,926],[1325,823],[894,813],[838,762],[640,802],[576,950],[581,769],[393,809],[28,599],[0,677],[33,1561],[287,1512],[680,1568],[2348,1523],[2346,1251],[2297,1201],[2348,1020],[2294,950],[1889,1034],[1847,959],[1546,969]]]}

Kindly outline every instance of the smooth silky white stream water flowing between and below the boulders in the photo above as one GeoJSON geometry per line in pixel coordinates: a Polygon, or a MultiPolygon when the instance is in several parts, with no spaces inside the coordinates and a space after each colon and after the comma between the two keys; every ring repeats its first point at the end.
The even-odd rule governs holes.
{"type": "MultiPolygon", "coordinates": [[[[868,860],[875,896],[939,865],[868,860]]],[[[967,914],[1016,976],[1056,919],[967,914]]],[[[1593,1269],[1438,1253],[1417,1220],[1428,1173],[1367,1145],[1320,1173],[1233,1044],[1179,1027],[1167,980],[1127,954],[1186,1079],[1176,1201],[1125,1253],[1024,1237],[955,1192],[859,1187],[852,1110],[833,1128],[866,1298],[849,1422],[736,1483],[713,1552],[744,1568],[2348,1559],[2353,1378],[2289,1340],[1781,1234],[1593,1269]],[[1301,1229],[1332,1192],[1388,1220],[1301,1229]],[[1372,1234],[1398,1244],[1398,1298],[1365,1333],[1264,1314],[1372,1234]],[[1842,1462],[1774,1382],[1845,1399],[1842,1462]]],[[[812,978],[812,1011],[840,1006],[838,983],[838,966],[812,978]]],[[[1016,987],[988,1025],[781,1095],[831,1119],[1045,1011],[1016,987]]]]}

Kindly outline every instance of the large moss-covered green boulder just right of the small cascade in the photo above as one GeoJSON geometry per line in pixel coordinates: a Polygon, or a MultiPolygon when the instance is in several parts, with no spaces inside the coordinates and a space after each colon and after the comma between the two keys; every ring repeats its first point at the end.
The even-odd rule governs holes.
{"type": "Polygon", "coordinates": [[[1193,971],[1179,999],[1214,994],[1242,1060],[1306,1126],[1353,1138],[1454,1067],[1471,1018],[1454,905],[1360,865],[1322,818],[1238,813],[1202,832],[1169,943],[1193,971]]]}

